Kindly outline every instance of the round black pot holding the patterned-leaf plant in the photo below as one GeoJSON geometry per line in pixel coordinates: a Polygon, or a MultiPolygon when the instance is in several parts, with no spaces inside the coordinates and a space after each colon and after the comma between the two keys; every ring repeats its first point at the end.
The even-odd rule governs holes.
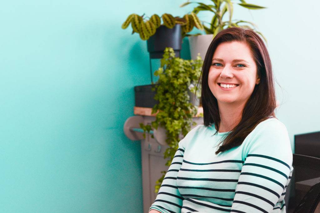
{"type": "Polygon", "coordinates": [[[162,58],[166,47],[172,47],[176,57],[180,57],[181,42],[181,25],[176,24],[172,29],[161,25],[147,40],[150,58],[162,58]]]}

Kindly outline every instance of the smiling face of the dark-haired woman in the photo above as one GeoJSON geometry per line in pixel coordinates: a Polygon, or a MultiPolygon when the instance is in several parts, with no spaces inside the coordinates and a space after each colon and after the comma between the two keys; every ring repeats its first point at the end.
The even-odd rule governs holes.
{"type": "Polygon", "coordinates": [[[259,80],[257,65],[246,43],[231,41],[218,45],[213,54],[208,84],[219,105],[245,103],[259,80]]]}

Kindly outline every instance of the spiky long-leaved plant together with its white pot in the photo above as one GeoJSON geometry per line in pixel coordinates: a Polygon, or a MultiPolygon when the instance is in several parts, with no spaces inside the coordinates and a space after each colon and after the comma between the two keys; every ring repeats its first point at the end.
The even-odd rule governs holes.
{"type": "MultiPolygon", "coordinates": [[[[196,35],[189,36],[189,45],[190,45],[190,54],[191,58],[196,58],[197,54],[200,53],[200,56],[204,59],[206,51],[214,38],[221,30],[229,28],[229,27],[243,27],[253,29],[256,33],[259,33],[262,38],[266,40],[266,38],[262,35],[262,33],[256,30],[257,26],[249,21],[243,20],[232,20],[233,15],[233,2],[231,0],[211,0],[213,4],[204,4],[201,2],[186,2],[180,7],[184,7],[188,4],[195,3],[197,6],[193,9],[193,13],[198,14],[200,11],[210,11],[212,12],[212,18],[210,23],[204,22],[204,31],[205,35],[196,35]],[[229,14],[228,20],[224,20],[224,15],[229,14]],[[249,24],[249,25],[248,25],[249,24]]],[[[239,0],[238,5],[247,8],[249,10],[257,10],[263,9],[265,7],[261,7],[254,4],[248,4],[244,0],[239,0]]]]}

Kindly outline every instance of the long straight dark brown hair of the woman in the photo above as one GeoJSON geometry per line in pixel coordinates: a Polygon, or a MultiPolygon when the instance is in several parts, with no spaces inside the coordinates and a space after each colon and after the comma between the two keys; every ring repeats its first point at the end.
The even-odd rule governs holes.
{"type": "Polygon", "coordinates": [[[204,58],[201,72],[201,102],[204,114],[204,125],[214,122],[216,132],[219,130],[220,113],[217,99],[208,85],[208,74],[212,64],[213,54],[222,42],[240,41],[249,45],[253,59],[257,65],[260,84],[256,84],[253,92],[242,111],[240,122],[221,141],[223,144],[215,152],[226,151],[242,144],[249,133],[261,122],[270,116],[275,117],[276,95],[273,83],[273,73],[268,50],[257,33],[250,29],[231,27],[222,30],[212,40],[204,58]]]}

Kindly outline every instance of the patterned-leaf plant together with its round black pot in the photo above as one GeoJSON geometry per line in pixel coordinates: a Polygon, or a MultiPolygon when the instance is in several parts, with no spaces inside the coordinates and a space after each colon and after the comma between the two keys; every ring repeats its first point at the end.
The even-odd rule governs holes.
{"type": "Polygon", "coordinates": [[[154,14],[150,18],[143,14],[131,14],[122,24],[122,29],[126,29],[131,24],[132,34],[139,33],[142,40],[147,40],[150,58],[162,58],[166,47],[172,47],[179,57],[182,38],[190,32],[193,27],[203,30],[196,13],[186,14],[182,18],[173,17],[164,13],[161,18],[154,14]],[[161,24],[161,19],[163,24],[161,24]]]}

